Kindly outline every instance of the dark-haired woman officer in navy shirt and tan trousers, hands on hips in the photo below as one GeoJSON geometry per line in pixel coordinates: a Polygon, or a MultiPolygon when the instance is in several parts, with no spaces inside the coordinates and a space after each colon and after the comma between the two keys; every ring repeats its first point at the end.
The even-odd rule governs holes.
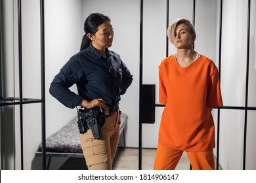
{"type": "Polygon", "coordinates": [[[84,31],[80,52],[54,77],[50,93],[69,108],[97,107],[105,114],[113,113],[105,118],[101,139],[95,139],[91,129],[79,136],[88,169],[112,169],[119,141],[121,112],[117,104],[120,95],[131,85],[133,76],[120,56],[108,50],[114,38],[108,16],[91,14],[85,20],[84,31]],[[74,84],[78,94],[69,90],[74,84]]]}

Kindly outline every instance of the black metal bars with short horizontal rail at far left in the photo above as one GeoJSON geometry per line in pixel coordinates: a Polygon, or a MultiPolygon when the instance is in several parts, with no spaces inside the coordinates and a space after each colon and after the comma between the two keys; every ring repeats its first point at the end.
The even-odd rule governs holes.
{"type": "MultiPolygon", "coordinates": [[[[44,1],[40,0],[41,18],[41,99],[23,98],[22,84],[22,5],[17,0],[18,8],[18,75],[19,75],[19,97],[0,97],[0,106],[20,105],[20,169],[24,169],[23,148],[23,105],[30,103],[41,103],[41,123],[43,150],[45,149],[45,33],[44,33],[44,1]]],[[[46,169],[45,152],[43,153],[43,169],[46,169]]],[[[2,161],[3,162],[3,161],[2,161]]],[[[3,165],[1,165],[3,167],[3,165]]]]}

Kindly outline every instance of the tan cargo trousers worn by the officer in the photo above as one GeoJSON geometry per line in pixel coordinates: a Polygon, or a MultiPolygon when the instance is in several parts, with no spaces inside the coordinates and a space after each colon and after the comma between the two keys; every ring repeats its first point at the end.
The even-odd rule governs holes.
{"type": "Polygon", "coordinates": [[[101,128],[102,139],[95,139],[91,129],[79,135],[89,170],[112,170],[119,141],[119,113],[116,111],[105,119],[105,124],[101,128]]]}

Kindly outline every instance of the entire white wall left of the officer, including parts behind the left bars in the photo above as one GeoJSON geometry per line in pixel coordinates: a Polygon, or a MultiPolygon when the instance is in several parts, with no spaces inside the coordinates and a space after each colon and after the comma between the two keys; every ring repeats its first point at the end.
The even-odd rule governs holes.
{"type": "MultiPolygon", "coordinates": [[[[16,2],[15,2],[16,3],[16,2]]],[[[14,3],[14,7],[16,4],[14,3]]],[[[39,1],[22,1],[23,97],[41,98],[39,1]]],[[[79,51],[81,41],[81,1],[45,1],[45,94],[47,137],[71,120],[76,112],[49,94],[49,86],[62,65],[79,51]]],[[[18,50],[15,51],[17,54],[18,50]]],[[[17,59],[17,58],[16,58],[17,59]]],[[[16,60],[17,63],[17,60],[16,60]]],[[[16,65],[17,69],[18,65],[16,65]]],[[[18,73],[18,72],[17,72],[18,73]]],[[[15,74],[18,86],[18,74],[15,74]]],[[[72,88],[75,90],[75,88],[72,88]]],[[[18,97],[18,87],[15,95],[18,97]]],[[[16,119],[19,107],[16,106],[16,119]]],[[[20,129],[16,120],[16,169],[20,169],[20,129]]],[[[41,143],[41,104],[24,105],[24,169],[40,169],[34,161],[41,143]]]]}

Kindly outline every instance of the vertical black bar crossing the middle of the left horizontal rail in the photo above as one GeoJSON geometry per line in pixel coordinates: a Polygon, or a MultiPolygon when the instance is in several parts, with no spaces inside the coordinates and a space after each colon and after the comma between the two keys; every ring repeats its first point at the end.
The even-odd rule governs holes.
{"type": "MultiPolygon", "coordinates": [[[[19,63],[19,92],[20,101],[22,101],[22,6],[21,0],[18,0],[18,63],[19,63]]],[[[20,165],[23,170],[23,105],[20,104],[20,165]]],[[[15,166],[15,165],[14,165],[15,166]]]]}

